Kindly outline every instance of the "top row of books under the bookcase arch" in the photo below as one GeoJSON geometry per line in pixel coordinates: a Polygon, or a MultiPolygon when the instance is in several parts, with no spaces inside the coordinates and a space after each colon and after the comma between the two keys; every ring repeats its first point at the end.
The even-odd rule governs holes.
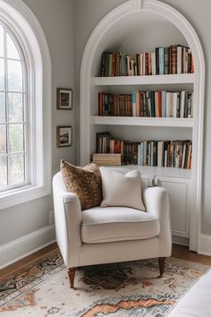
{"type": "Polygon", "coordinates": [[[129,56],[122,52],[103,52],[101,76],[144,76],[194,73],[189,47],[156,47],[155,52],[129,56]]]}

